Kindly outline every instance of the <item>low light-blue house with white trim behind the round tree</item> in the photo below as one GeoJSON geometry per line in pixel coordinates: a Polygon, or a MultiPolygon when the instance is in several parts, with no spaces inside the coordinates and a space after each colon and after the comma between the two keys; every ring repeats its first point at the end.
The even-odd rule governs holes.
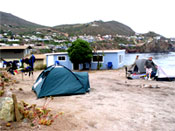
{"type": "MultiPolygon", "coordinates": [[[[125,50],[98,50],[93,52],[93,58],[91,61],[91,67],[86,63],[86,69],[91,68],[92,70],[97,69],[98,61],[97,56],[99,57],[99,62],[101,64],[100,69],[108,69],[108,63],[112,63],[112,69],[118,69],[124,66],[125,50]]],[[[60,53],[49,53],[46,54],[46,65],[47,67],[55,64],[56,61],[59,61],[59,64],[66,66],[70,70],[81,70],[83,65],[73,64],[68,56],[67,52],[60,53]]]]}

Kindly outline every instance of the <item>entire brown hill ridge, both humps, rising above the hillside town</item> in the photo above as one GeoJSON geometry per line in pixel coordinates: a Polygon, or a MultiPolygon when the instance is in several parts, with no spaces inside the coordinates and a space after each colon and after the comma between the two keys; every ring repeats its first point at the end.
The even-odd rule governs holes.
{"type": "Polygon", "coordinates": [[[94,21],[85,24],[59,25],[46,27],[29,22],[10,13],[0,11],[0,29],[12,31],[13,33],[41,32],[62,32],[69,35],[134,35],[135,32],[128,26],[117,21],[94,21]]]}

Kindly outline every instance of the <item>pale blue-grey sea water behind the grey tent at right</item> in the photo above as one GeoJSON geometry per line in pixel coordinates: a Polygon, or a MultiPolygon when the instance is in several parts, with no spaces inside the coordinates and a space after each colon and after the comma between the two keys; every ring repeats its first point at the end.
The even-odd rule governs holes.
{"type": "Polygon", "coordinates": [[[168,74],[175,76],[175,52],[169,53],[128,53],[125,55],[125,65],[134,63],[136,55],[139,59],[148,59],[153,57],[153,62],[168,74]]]}

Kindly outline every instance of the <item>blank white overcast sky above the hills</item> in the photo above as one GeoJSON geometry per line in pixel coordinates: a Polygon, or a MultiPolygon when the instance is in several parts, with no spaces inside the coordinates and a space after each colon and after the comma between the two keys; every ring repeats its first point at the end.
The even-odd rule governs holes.
{"type": "Polygon", "coordinates": [[[0,11],[45,26],[115,20],[175,37],[175,0],[0,0],[0,11]]]}

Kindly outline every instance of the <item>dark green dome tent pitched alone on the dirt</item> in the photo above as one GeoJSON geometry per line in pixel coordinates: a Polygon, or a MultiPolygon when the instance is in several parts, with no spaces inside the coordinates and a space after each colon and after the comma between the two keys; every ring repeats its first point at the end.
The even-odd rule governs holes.
{"type": "Polygon", "coordinates": [[[52,65],[38,76],[32,90],[38,98],[83,94],[90,90],[88,73],[74,73],[62,65],[52,65]]]}

